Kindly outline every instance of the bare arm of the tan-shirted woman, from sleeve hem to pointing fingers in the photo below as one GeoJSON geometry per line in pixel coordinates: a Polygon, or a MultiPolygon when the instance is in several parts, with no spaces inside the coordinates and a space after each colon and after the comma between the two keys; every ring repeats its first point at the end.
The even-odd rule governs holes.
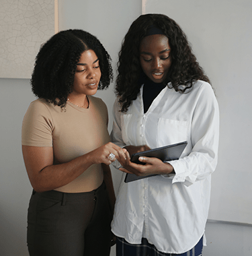
{"type": "Polygon", "coordinates": [[[22,150],[30,182],[38,192],[57,189],[71,183],[92,164],[111,164],[108,159],[110,153],[116,158],[118,154],[124,154],[120,147],[107,143],[69,162],[53,164],[54,154],[50,147],[23,146],[22,150]]]}

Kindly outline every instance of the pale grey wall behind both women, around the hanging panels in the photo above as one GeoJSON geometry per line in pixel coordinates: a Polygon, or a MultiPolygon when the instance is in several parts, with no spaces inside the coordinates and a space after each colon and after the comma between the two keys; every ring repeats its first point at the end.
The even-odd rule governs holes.
{"type": "MultiPolygon", "coordinates": [[[[140,0],[60,1],[60,29],[83,28],[96,34],[116,59],[120,42],[131,22],[140,14],[140,0]],[[93,8],[95,3],[95,8],[93,8]],[[95,10],[93,12],[93,10],[95,10]],[[82,13],[85,13],[82,14],[82,13]],[[92,14],[93,13],[93,14],[92,14]],[[88,18],[87,20],[85,19],[88,18]],[[92,24],[94,22],[94,27],[92,24]],[[76,26],[75,26],[76,24],[76,26]],[[99,24],[101,30],[99,30],[99,24]],[[92,29],[91,29],[92,28],[92,29]]],[[[116,70],[116,69],[115,69],[116,70]]],[[[97,94],[108,105],[110,130],[114,84],[97,94]]],[[[28,256],[26,247],[26,216],[32,187],[28,181],[21,151],[21,126],[26,109],[34,96],[28,79],[0,79],[0,255],[28,256]]],[[[243,102],[241,102],[243,103],[243,102]]],[[[117,189],[120,172],[113,171],[117,189]]],[[[252,228],[229,224],[208,223],[208,246],[204,256],[251,255],[252,228]]],[[[115,255],[114,248],[112,256],[115,255]]]]}

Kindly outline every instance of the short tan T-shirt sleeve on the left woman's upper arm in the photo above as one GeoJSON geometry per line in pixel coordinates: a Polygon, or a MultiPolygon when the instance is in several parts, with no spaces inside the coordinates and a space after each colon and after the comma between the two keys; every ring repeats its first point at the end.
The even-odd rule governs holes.
{"type": "Polygon", "coordinates": [[[52,147],[52,117],[47,106],[35,100],[24,116],[22,124],[22,145],[52,147]]]}

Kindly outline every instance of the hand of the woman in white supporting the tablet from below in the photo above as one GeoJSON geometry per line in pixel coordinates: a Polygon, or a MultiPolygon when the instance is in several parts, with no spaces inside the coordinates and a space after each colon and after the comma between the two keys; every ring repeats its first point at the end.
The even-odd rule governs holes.
{"type": "Polygon", "coordinates": [[[126,158],[118,160],[123,166],[122,168],[119,168],[119,170],[122,170],[122,172],[134,173],[137,176],[175,173],[171,164],[164,163],[159,158],[147,158],[141,156],[138,160],[145,164],[135,164],[130,161],[130,155],[126,152],[126,158]]]}

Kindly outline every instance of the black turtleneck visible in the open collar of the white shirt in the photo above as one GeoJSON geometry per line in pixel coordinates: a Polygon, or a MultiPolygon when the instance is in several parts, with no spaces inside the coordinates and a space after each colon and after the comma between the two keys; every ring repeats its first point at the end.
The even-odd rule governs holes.
{"type": "Polygon", "coordinates": [[[151,103],[159,95],[161,90],[165,88],[165,84],[156,84],[155,82],[146,79],[142,92],[142,100],[144,102],[144,113],[146,113],[151,106],[151,103]]]}

